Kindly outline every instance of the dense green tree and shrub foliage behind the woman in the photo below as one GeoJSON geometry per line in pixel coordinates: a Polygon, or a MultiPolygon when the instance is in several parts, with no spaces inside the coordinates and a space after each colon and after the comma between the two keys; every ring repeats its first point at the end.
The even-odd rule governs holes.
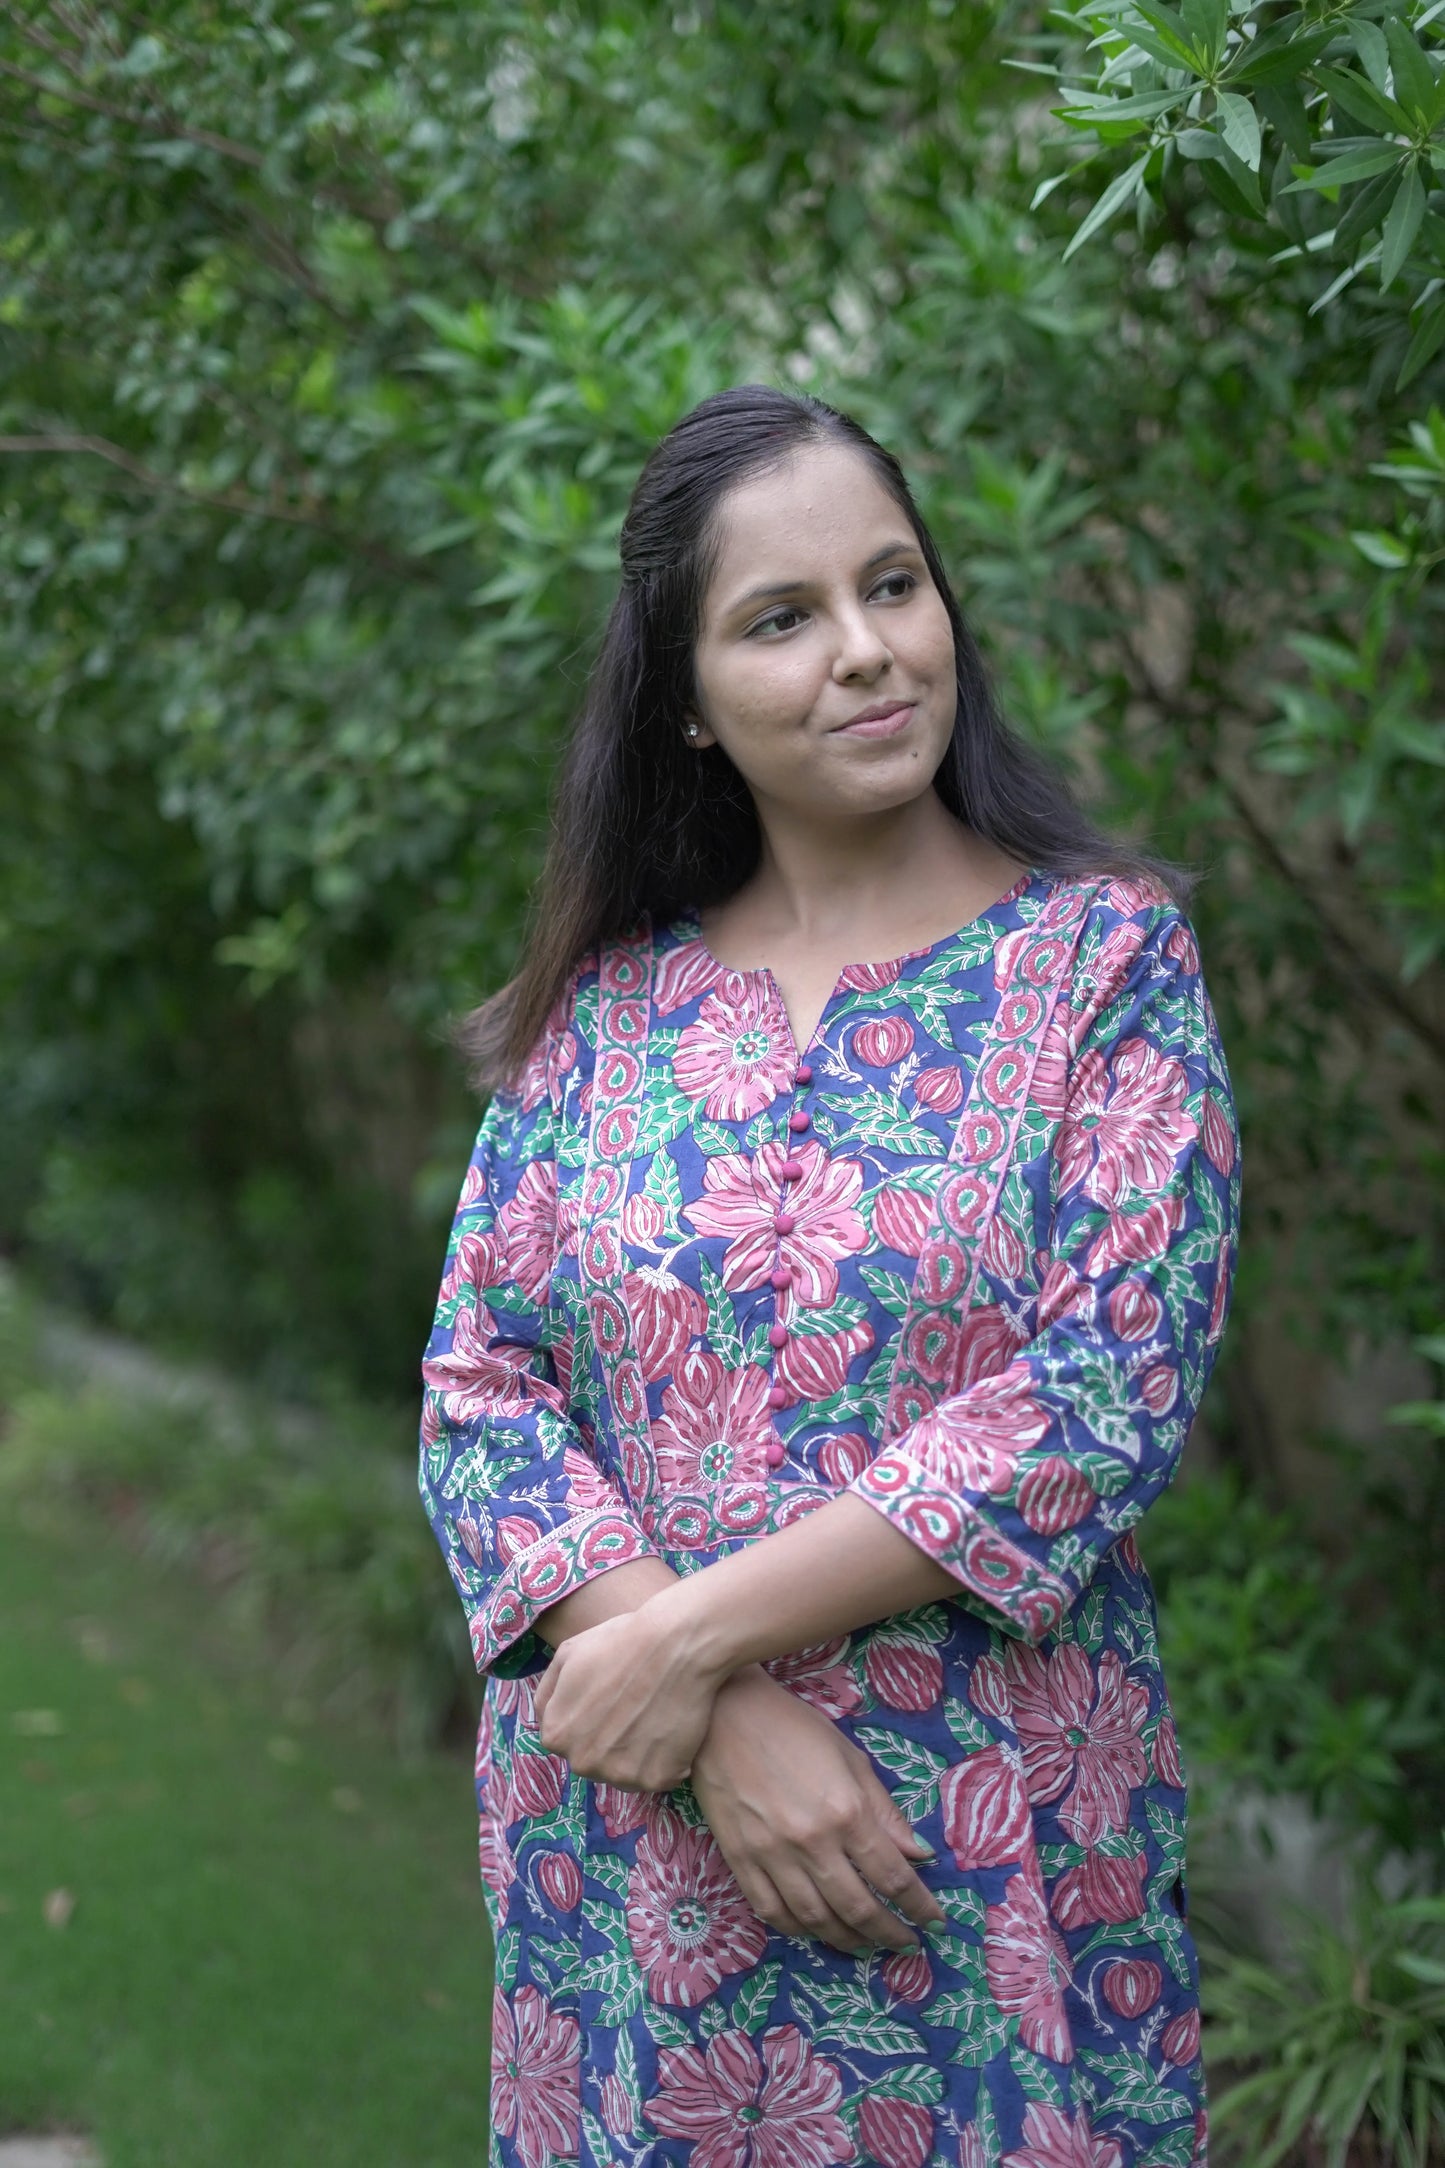
{"type": "MultiPolygon", "coordinates": [[[[1207,876],[1248,1240],[1155,1535],[1185,1739],[1224,1821],[1304,1802],[1367,1901],[1439,1888],[1443,35],[1423,0],[0,7],[28,1283],[409,1450],[474,1121],[446,1021],[516,958],[630,479],[706,390],[804,384],[903,457],[1020,728],[1207,876]]],[[[45,1420],[32,1476],[102,1481],[45,1420]]],[[[204,1528],[195,1453],[141,1459],[204,1528]]],[[[429,1598],[321,1461],[299,1557],[362,1615],[392,1589],[390,1648],[429,1598]]]]}

